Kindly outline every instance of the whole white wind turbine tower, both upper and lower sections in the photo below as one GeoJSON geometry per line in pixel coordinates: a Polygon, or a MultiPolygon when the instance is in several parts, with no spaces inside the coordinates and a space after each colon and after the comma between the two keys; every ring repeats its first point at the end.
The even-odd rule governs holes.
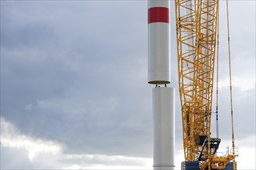
{"type": "Polygon", "coordinates": [[[148,0],[148,83],[154,84],[154,170],[175,168],[175,89],[171,83],[169,0],[148,0]]]}

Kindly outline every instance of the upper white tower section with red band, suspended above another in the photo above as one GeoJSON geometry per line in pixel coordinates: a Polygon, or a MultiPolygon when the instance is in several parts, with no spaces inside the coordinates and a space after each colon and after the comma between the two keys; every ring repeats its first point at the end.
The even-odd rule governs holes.
{"type": "Polygon", "coordinates": [[[148,83],[171,82],[169,0],[148,0],[148,83]]]}

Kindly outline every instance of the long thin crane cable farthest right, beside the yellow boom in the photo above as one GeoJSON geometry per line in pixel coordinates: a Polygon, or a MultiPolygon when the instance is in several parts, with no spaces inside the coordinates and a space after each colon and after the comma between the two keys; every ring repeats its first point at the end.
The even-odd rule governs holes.
{"type": "Polygon", "coordinates": [[[234,121],[233,121],[233,100],[232,100],[232,81],[231,81],[231,55],[230,55],[230,21],[228,12],[228,0],[227,0],[227,43],[228,43],[228,59],[229,59],[229,69],[230,69],[230,108],[231,108],[231,128],[232,128],[232,149],[233,155],[235,155],[234,150],[234,121]]]}

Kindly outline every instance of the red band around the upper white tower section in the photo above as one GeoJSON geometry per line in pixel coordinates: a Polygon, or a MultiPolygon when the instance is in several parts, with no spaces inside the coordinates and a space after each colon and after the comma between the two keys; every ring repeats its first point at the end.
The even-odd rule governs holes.
{"type": "Polygon", "coordinates": [[[152,22],[169,23],[169,8],[154,7],[148,9],[148,24],[152,22]]]}

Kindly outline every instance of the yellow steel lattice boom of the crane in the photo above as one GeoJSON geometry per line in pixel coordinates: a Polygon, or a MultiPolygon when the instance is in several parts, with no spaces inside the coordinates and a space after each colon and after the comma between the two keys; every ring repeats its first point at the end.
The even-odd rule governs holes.
{"type": "Polygon", "coordinates": [[[183,145],[194,161],[210,132],[218,0],[176,0],[175,12],[183,145]]]}

